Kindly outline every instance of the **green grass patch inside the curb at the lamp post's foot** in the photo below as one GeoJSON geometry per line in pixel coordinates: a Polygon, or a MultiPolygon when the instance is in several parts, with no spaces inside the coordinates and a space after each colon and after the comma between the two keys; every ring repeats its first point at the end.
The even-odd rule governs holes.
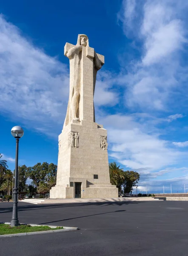
{"type": "Polygon", "coordinates": [[[0,224],[0,235],[46,231],[46,230],[58,230],[58,229],[63,229],[63,227],[56,227],[56,228],[51,228],[48,226],[31,227],[30,225],[20,225],[17,227],[11,227],[9,224],[0,224]]]}

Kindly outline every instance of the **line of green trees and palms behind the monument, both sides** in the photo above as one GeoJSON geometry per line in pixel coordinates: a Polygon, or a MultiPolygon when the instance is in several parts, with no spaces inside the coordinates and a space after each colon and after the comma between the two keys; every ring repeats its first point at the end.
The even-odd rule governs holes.
{"type": "MultiPolygon", "coordinates": [[[[112,185],[116,185],[119,194],[127,194],[132,192],[133,187],[138,183],[140,175],[134,171],[123,171],[116,162],[109,163],[110,181],[112,185]]],[[[46,194],[52,186],[56,185],[57,165],[37,163],[32,167],[22,165],[18,167],[18,192],[25,193],[29,196],[38,194],[46,194]],[[30,184],[27,184],[30,179],[30,184]]],[[[0,154],[0,192],[4,195],[11,195],[14,179],[14,171],[12,172],[7,161],[2,159],[0,154]]]]}

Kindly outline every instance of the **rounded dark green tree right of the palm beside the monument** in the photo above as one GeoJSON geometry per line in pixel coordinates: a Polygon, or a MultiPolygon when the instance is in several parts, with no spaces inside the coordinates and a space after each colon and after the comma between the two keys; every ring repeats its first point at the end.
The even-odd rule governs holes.
{"type": "Polygon", "coordinates": [[[125,180],[123,182],[123,192],[130,193],[133,190],[133,186],[136,186],[140,179],[140,174],[134,171],[124,172],[125,180]]]}

